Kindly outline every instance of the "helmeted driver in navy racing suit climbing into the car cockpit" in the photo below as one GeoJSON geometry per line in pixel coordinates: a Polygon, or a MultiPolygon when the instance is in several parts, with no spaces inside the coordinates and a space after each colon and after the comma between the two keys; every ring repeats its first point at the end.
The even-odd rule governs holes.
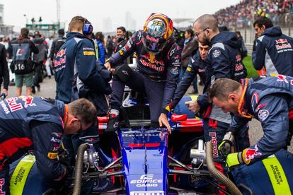
{"type": "Polygon", "coordinates": [[[117,130],[117,116],[125,84],[138,92],[146,93],[151,122],[157,124],[159,121],[160,126],[165,125],[171,131],[166,106],[170,104],[176,90],[181,60],[181,49],[172,34],[172,20],[163,14],[152,13],[144,24],[144,30],[135,32],[125,47],[105,63],[110,70],[134,52],[137,53],[135,71],[131,71],[127,65],[115,69],[107,131],[117,130]]]}

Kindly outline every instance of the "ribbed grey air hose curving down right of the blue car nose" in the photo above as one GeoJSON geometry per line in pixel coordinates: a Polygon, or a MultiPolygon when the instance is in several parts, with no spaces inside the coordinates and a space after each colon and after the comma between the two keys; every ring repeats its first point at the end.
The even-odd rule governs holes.
{"type": "Polygon", "coordinates": [[[242,195],[241,191],[236,187],[236,185],[228,177],[222,174],[222,172],[219,172],[219,170],[217,170],[217,168],[214,166],[214,160],[212,158],[212,143],[210,141],[207,141],[206,143],[205,153],[207,155],[206,161],[209,173],[221,184],[226,186],[231,194],[242,195]]]}

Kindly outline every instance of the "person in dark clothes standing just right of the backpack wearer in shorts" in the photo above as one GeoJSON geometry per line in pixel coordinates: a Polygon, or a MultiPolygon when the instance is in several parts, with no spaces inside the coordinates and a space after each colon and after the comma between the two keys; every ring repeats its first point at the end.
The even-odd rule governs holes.
{"type": "Polygon", "coordinates": [[[34,32],[33,43],[35,43],[35,46],[38,47],[39,49],[38,54],[33,54],[33,63],[35,64],[35,75],[33,78],[32,92],[35,93],[35,87],[37,87],[38,91],[40,91],[40,81],[42,80],[41,78],[42,66],[47,60],[47,43],[40,36],[39,31],[34,32]]]}

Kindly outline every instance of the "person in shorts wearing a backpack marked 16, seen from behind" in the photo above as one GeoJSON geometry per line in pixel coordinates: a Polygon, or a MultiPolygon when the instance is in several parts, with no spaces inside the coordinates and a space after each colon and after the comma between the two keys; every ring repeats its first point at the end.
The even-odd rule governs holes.
{"type": "Polygon", "coordinates": [[[16,96],[22,93],[23,80],[26,86],[26,95],[32,95],[33,61],[32,52],[38,54],[39,49],[28,38],[28,28],[21,28],[21,35],[11,42],[13,57],[11,71],[16,74],[16,96]]]}

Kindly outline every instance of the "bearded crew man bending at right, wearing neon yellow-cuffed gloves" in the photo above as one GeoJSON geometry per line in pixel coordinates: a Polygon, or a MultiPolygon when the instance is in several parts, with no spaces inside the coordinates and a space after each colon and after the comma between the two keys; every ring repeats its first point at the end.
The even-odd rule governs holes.
{"type": "Polygon", "coordinates": [[[252,118],[261,122],[264,131],[263,137],[253,146],[230,153],[226,158],[227,167],[250,165],[287,148],[293,128],[292,83],[292,77],[283,75],[246,78],[242,84],[228,78],[215,81],[209,98],[223,112],[235,114],[228,131],[234,134],[252,118]]]}

